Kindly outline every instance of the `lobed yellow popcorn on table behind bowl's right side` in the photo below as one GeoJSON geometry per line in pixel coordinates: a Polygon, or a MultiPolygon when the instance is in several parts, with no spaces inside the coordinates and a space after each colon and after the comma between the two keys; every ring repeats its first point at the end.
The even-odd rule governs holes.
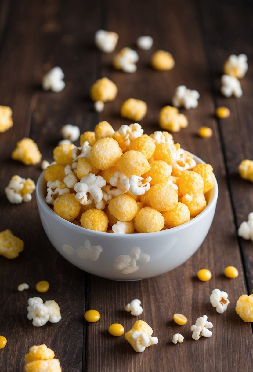
{"type": "MultiPolygon", "coordinates": [[[[159,114],[159,125],[162,129],[171,132],[178,132],[181,128],[188,126],[187,116],[178,113],[178,109],[172,106],[165,106],[159,114]]],[[[165,143],[165,142],[162,142],[165,143]]]]}

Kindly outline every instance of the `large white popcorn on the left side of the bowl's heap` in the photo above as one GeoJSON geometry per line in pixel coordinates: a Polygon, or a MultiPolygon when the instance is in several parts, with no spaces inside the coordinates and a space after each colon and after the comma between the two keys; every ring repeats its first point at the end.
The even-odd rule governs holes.
{"type": "Polygon", "coordinates": [[[103,198],[101,187],[105,185],[106,181],[103,177],[89,173],[75,184],[76,199],[83,205],[91,204],[93,200],[98,204],[103,198]]]}

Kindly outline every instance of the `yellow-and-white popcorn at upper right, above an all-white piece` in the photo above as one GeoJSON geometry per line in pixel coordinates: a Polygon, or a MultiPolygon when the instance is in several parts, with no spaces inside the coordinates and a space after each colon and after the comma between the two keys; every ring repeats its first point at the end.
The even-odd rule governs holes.
{"type": "Polygon", "coordinates": [[[224,64],[223,71],[224,74],[241,79],[245,76],[248,67],[246,54],[239,54],[238,56],[231,54],[224,64]]]}

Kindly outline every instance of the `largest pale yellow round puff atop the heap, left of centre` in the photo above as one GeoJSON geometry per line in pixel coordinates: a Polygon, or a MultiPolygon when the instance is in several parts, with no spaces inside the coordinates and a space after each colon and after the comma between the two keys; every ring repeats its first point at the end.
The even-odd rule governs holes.
{"type": "Polygon", "coordinates": [[[105,170],[114,166],[121,155],[122,150],[117,141],[101,138],[91,148],[90,161],[94,167],[105,170]]]}

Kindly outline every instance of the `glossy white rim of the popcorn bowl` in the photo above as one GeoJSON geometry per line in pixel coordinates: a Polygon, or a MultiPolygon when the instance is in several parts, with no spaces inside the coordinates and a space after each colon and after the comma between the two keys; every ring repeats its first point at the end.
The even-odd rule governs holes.
{"type": "MultiPolygon", "coordinates": [[[[188,153],[190,153],[188,151],[188,153]]],[[[191,153],[190,153],[191,154],[191,153]]],[[[194,154],[191,154],[193,155],[193,158],[194,160],[196,160],[198,162],[198,164],[206,164],[203,160],[201,160],[199,157],[197,157],[196,155],[194,154]]],[[[179,225],[179,226],[175,226],[175,227],[171,227],[171,228],[168,228],[166,230],[160,230],[160,231],[155,231],[155,232],[142,232],[142,233],[132,233],[132,234],[112,234],[112,233],[108,233],[108,232],[104,232],[104,231],[96,231],[96,230],[90,230],[90,229],[86,229],[85,227],[82,227],[82,226],[78,226],[78,225],[75,225],[73,224],[72,222],[70,221],[67,221],[66,219],[58,216],[51,208],[50,206],[46,203],[45,201],[45,195],[43,195],[43,192],[42,192],[42,183],[45,182],[45,179],[44,179],[44,171],[43,170],[37,180],[37,183],[36,183],[36,200],[37,200],[37,204],[39,203],[42,208],[44,209],[47,209],[47,212],[49,214],[52,215],[53,218],[56,219],[56,221],[58,220],[59,223],[63,224],[63,225],[66,225],[66,227],[70,228],[72,230],[76,230],[78,232],[81,232],[83,231],[84,233],[85,232],[89,232],[89,234],[95,234],[95,235],[98,235],[98,236],[101,236],[101,237],[113,237],[114,238],[121,238],[121,239],[129,239],[130,237],[131,238],[135,238],[135,239],[143,239],[144,237],[147,238],[147,237],[155,237],[157,236],[157,234],[159,233],[160,235],[170,235],[170,234],[173,234],[174,232],[178,232],[180,230],[183,230],[187,227],[190,227],[192,224],[195,224],[197,223],[198,220],[202,219],[203,217],[205,217],[206,214],[208,214],[208,212],[214,207],[214,205],[216,205],[217,203],[217,199],[218,199],[218,183],[217,183],[217,180],[216,180],[216,177],[213,173],[213,176],[214,176],[214,185],[213,185],[213,196],[210,200],[210,202],[207,204],[206,208],[200,212],[200,214],[198,214],[196,217],[192,218],[190,221],[188,222],[185,222],[184,224],[182,225],[179,225]],[[109,236],[108,236],[109,234],[109,236]],[[115,236],[116,235],[116,236],[115,236]]],[[[210,190],[211,191],[211,190],[210,190]]]]}

